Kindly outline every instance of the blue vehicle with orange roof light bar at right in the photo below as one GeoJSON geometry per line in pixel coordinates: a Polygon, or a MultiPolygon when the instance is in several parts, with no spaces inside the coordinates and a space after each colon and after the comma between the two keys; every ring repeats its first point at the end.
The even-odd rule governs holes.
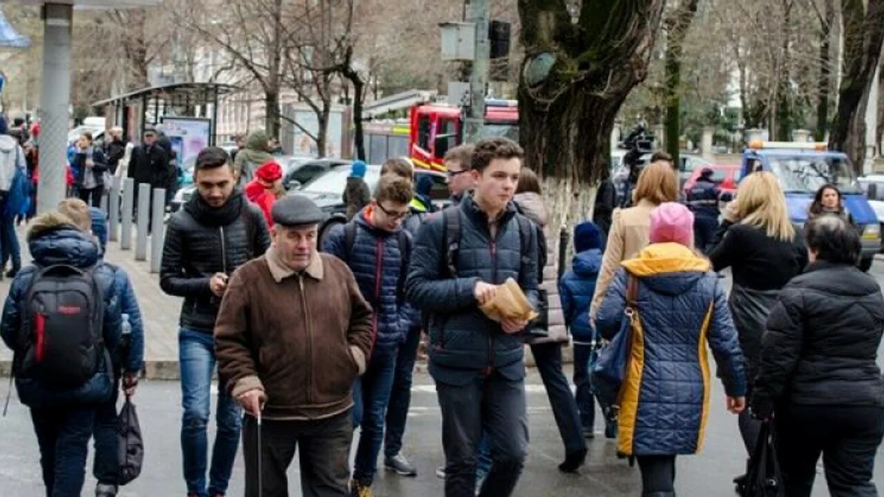
{"type": "Polygon", "coordinates": [[[789,218],[804,226],[819,187],[827,183],[841,190],[844,207],[860,231],[863,253],[860,269],[872,267],[881,248],[878,216],[857,182],[850,158],[842,152],[829,151],[824,143],[753,142],[743,151],[742,177],[751,172],[773,172],[780,180],[789,218]]]}

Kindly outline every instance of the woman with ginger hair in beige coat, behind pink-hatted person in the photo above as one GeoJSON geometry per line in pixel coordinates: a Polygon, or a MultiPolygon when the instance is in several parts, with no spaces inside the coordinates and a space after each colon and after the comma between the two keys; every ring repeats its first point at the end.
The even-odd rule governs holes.
{"type": "Polygon", "coordinates": [[[611,284],[614,271],[621,262],[635,258],[648,246],[651,232],[651,211],[664,202],[678,200],[678,176],[672,166],[664,161],[649,164],[638,176],[636,189],[632,192],[635,207],[613,211],[611,233],[602,258],[602,269],[598,272],[596,293],[592,297],[590,316],[595,317],[598,306],[611,284]]]}

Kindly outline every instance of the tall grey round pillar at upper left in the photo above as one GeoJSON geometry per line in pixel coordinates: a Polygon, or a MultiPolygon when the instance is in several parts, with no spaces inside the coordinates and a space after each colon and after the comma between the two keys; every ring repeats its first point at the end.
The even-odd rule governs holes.
{"type": "Polygon", "coordinates": [[[65,198],[72,18],[70,4],[44,6],[38,214],[56,210],[65,198]]]}

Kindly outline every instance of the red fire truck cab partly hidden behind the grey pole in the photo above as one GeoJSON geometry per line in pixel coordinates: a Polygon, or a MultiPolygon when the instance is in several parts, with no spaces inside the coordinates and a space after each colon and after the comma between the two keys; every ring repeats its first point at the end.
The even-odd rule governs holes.
{"type": "MultiPolygon", "coordinates": [[[[418,103],[411,107],[408,152],[418,167],[445,171],[448,149],[463,141],[461,107],[446,103],[418,103]]],[[[484,136],[519,141],[519,110],[514,100],[485,101],[484,136]]]]}

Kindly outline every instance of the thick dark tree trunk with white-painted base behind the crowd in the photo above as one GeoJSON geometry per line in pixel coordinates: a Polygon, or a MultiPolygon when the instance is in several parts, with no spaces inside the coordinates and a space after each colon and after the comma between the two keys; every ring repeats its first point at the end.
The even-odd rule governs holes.
{"type": "Polygon", "coordinates": [[[591,185],[609,172],[614,118],[647,76],[664,3],[584,1],[575,22],[565,2],[518,2],[519,136],[547,187],[551,233],[591,217],[591,185]]]}

